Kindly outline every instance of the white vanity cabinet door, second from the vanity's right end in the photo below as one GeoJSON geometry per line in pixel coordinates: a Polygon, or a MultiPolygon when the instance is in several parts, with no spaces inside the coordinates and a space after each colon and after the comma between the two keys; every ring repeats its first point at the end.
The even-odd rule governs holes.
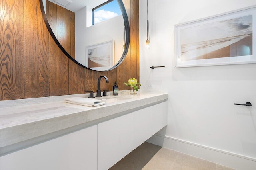
{"type": "Polygon", "coordinates": [[[152,136],[152,107],[132,113],[132,150],[152,136]]]}

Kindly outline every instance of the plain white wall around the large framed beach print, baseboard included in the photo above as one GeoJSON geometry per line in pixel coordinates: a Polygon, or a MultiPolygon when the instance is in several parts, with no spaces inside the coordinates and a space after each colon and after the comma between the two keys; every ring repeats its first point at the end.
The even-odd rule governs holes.
{"type": "Polygon", "coordinates": [[[247,164],[256,169],[256,64],[175,68],[174,53],[175,24],[253,6],[256,1],[148,1],[150,49],[145,48],[146,0],[140,0],[140,90],[169,94],[168,126],[150,141],[232,168],[247,164]],[[162,65],[166,67],[150,69],[162,65]],[[235,102],[251,102],[252,107],[235,102]],[[191,152],[192,147],[197,149],[191,152]],[[197,153],[200,150],[204,154],[197,153]],[[210,150],[218,156],[209,156],[210,150]],[[219,153],[234,158],[223,160],[219,153]],[[242,160],[234,162],[235,157],[242,160]]]}

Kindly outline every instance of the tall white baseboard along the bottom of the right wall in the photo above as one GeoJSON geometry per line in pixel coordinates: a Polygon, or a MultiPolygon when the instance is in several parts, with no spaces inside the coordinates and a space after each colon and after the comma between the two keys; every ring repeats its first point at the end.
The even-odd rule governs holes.
{"type": "Polygon", "coordinates": [[[198,145],[196,143],[163,136],[157,133],[148,139],[147,142],[236,170],[256,170],[256,159],[240,154],[198,145]]]}

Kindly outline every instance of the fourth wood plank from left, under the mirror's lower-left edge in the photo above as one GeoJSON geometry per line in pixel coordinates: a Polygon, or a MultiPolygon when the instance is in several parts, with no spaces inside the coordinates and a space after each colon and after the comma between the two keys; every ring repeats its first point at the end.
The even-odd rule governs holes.
{"type": "Polygon", "coordinates": [[[69,94],[84,93],[84,68],[69,60],[69,94]]]}

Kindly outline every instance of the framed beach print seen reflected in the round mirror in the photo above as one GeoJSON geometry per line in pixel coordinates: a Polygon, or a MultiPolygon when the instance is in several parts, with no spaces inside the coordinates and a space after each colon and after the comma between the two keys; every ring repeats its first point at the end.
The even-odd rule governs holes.
{"type": "Polygon", "coordinates": [[[114,40],[86,47],[86,67],[97,71],[112,68],[114,62],[114,40]]]}

